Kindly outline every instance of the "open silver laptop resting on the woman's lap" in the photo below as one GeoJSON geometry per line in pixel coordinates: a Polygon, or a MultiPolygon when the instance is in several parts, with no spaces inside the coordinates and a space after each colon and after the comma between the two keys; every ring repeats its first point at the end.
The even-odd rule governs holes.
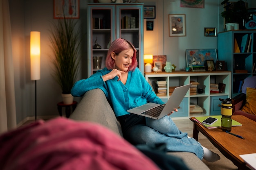
{"type": "Polygon", "coordinates": [[[147,103],[145,105],[135,107],[128,110],[130,113],[145,116],[152,119],[160,119],[167,114],[171,113],[175,109],[179,108],[181,101],[183,100],[186,92],[189,90],[192,84],[176,87],[167,101],[166,105],[159,105],[156,103],[147,103]]]}

